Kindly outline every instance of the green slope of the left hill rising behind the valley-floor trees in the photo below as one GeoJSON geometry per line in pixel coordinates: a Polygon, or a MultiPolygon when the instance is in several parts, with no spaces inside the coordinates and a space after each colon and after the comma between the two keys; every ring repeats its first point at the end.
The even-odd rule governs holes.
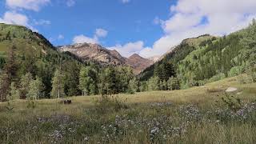
{"type": "MultiPolygon", "coordinates": [[[[78,61],[70,54],[60,54],[55,47],[42,36],[27,29],[24,26],[0,24],[0,64],[1,69],[8,61],[10,50],[14,49],[14,67],[15,72],[12,81],[18,82],[25,74],[32,74],[35,78],[42,79],[44,94],[42,97],[50,97],[52,89],[52,78],[57,67],[62,66],[66,78],[69,79],[68,71],[78,65],[78,61]],[[71,67],[70,63],[73,63],[71,67]]],[[[75,68],[74,68],[75,69],[75,68]]],[[[78,74],[79,71],[72,70],[72,73],[78,74]]],[[[1,74],[2,75],[2,74],[1,74]]],[[[72,75],[72,74],[71,74],[72,75]]],[[[76,79],[74,77],[74,79],[76,79]]],[[[73,82],[71,82],[73,83],[73,82]]],[[[66,90],[72,89],[70,82],[67,82],[66,90]]],[[[78,82],[74,82],[78,85],[78,82]]],[[[20,87],[17,83],[17,86],[20,87]]],[[[78,90],[72,90],[73,94],[79,94],[78,90]]],[[[68,93],[68,92],[67,92],[68,93]]],[[[70,92],[71,93],[71,92],[70,92]]]]}

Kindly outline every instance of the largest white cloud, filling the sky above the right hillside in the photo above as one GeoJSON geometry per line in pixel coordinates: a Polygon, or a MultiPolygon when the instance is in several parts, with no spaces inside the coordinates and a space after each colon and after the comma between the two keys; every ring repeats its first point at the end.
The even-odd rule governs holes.
{"type": "Polygon", "coordinates": [[[240,30],[256,18],[255,0],[178,0],[170,6],[172,16],[166,21],[159,18],[165,34],[151,48],[139,52],[144,57],[161,55],[185,38],[202,34],[223,35],[240,30]],[[202,22],[204,21],[204,22],[202,22]]]}

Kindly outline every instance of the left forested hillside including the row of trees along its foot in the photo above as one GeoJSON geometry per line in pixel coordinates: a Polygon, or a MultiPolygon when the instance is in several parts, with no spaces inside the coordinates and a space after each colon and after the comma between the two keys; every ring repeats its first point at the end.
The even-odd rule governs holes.
{"type": "Polygon", "coordinates": [[[24,26],[0,24],[1,100],[134,92],[133,70],[101,66],[58,51],[24,26]]]}

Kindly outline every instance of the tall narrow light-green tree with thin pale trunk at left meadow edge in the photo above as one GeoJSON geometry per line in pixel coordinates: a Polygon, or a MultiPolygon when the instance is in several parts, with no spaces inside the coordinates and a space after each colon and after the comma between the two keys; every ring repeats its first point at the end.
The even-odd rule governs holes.
{"type": "Polygon", "coordinates": [[[63,82],[63,74],[61,70],[55,70],[54,78],[52,80],[52,90],[50,92],[51,98],[62,98],[64,93],[64,82],[63,82]]]}

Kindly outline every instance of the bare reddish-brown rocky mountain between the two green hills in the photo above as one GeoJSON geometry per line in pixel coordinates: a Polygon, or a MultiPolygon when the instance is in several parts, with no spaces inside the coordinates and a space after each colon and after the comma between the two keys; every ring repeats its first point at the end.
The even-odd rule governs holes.
{"type": "Polygon", "coordinates": [[[80,43],[68,46],[58,46],[62,52],[70,52],[82,58],[84,62],[98,62],[102,65],[130,66],[135,74],[139,74],[146,67],[153,64],[149,59],[133,54],[129,58],[122,57],[117,50],[108,50],[98,44],[80,43]]]}

